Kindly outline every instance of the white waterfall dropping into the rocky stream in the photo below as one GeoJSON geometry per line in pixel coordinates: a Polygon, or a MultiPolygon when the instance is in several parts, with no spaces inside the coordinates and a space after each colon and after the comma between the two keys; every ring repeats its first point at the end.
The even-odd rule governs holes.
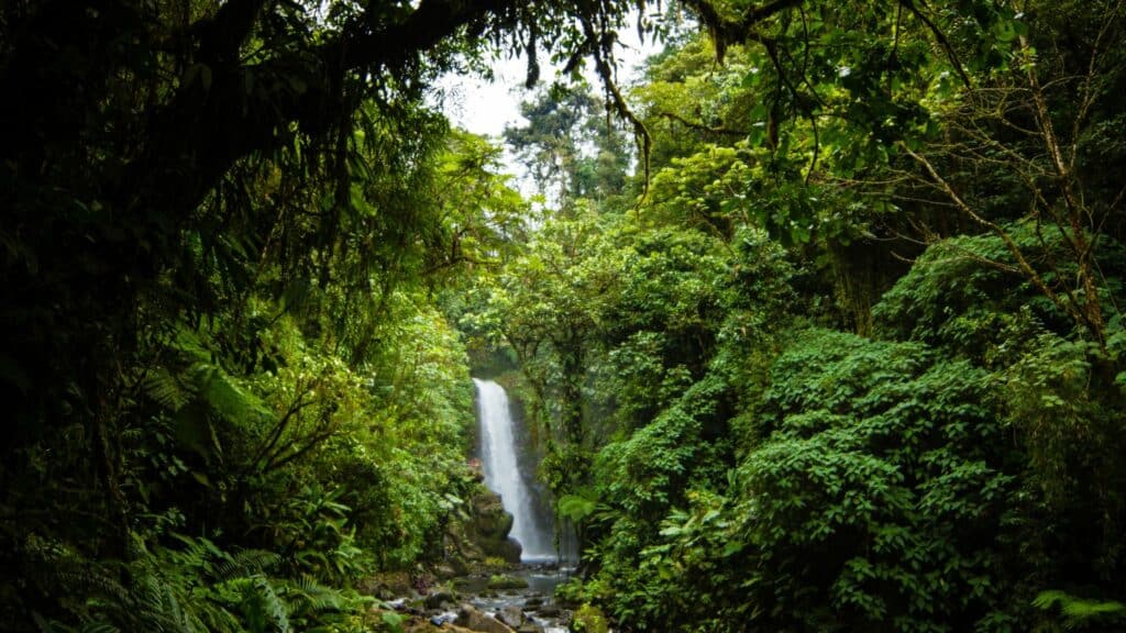
{"type": "Polygon", "coordinates": [[[551,526],[537,511],[539,499],[530,482],[534,464],[518,460],[517,437],[504,389],[492,381],[473,378],[477,386],[477,414],[481,420],[481,463],[485,485],[500,494],[504,510],[512,515],[510,536],[520,543],[520,560],[555,560],[551,526]]]}

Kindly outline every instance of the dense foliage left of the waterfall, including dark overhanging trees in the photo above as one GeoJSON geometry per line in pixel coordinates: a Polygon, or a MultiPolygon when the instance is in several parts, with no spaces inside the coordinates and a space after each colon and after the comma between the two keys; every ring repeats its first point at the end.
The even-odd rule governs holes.
{"type": "Polygon", "coordinates": [[[382,626],[479,485],[437,296],[527,206],[427,90],[624,11],[6,2],[5,628],[382,626]]]}

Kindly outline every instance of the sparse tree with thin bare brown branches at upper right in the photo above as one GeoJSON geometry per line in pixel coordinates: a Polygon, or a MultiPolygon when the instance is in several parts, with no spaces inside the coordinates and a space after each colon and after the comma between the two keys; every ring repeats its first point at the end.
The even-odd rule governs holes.
{"type": "Polygon", "coordinates": [[[1123,121],[1126,7],[1087,7],[1065,28],[1052,25],[1058,8],[1028,10],[999,26],[998,38],[1011,45],[1004,61],[954,99],[937,101],[946,142],[919,151],[905,144],[904,151],[920,167],[923,186],[1004,242],[1012,261],[997,266],[1033,284],[1106,351],[1108,288],[1098,259],[1106,233],[1112,240],[1120,230],[1126,188],[1101,173],[1105,161],[1121,154],[1100,136],[1123,121]],[[1029,23],[1045,28],[1029,32],[1029,23]],[[1018,243],[997,219],[1015,209],[994,211],[990,188],[974,182],[986,173],[1003,175],[1019,191],[1004,202],[1035,224],[1037,248],[1054,242],[1045,233],[1062,238],[1061,258],[1035,259],[1018,243]],[[1072,274],[1063,267],[1073,267],[1072,274]]]}

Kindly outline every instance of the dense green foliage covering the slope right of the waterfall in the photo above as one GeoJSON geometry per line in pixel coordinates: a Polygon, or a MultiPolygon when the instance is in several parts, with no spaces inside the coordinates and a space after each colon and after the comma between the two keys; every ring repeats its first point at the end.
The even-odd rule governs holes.
{"type": "Polygon", "coordinates": [[[564,594],[626,631],[1120,628],[1121,5],[792,5],[700,9],[629,91],[652,178],[558,187],[482,283],[564,594]]]}

